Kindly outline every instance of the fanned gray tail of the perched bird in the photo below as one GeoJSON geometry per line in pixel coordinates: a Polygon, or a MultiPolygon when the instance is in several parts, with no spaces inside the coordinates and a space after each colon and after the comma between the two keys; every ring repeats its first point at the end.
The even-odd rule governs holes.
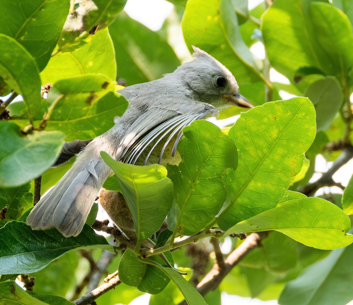
{"type": "Polygon", "coordinates": [[[32,209],[26,223],[34,230],[57,228],[65,237],[77,236],[83,228],[98,191],[110,174],[101,150],[114,156],[116,149],[96,138],[78,154],[71,169],[32,209]]]}

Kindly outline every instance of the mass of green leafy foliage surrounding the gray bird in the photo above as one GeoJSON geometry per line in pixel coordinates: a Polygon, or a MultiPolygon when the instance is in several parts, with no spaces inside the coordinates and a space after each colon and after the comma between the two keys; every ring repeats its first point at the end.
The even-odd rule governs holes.
{"type": "Polygon", "coordinates": [[[252,10],[244,0],[170,0],[175,11],[156,32],[121,12],[126,0],[10,2],[0,0],[0,96],[13,91],[0,102],[0,304],[73,304],[66,299],[86,293],[72,295],[85,287],[84,278],[90,280],[101,249],[114,252],[90,227],[97,205],[77,237],[26,226],[32,179],[42,176],[43,195],[72,165],[50,168],[64,138],[94,138],[124,114],[128,103],[115,92],[121,88],[116,81],[158,79],[187,58],[175,41],[169,45],[180,26],[186,47],[195,45],[223,63],[241,94],[260,106],[243,113],[222,109],[219,119],[241,113],[224,132],[207,121],[184,128],[181,161],[167,169],[127,165],[101,153],[115,173],[104,187],[124,195],[137,238],[135,251],[115,256],[101,276],[119,264],[122,284],[97,303],[128,304],[141,292],[155,294],[151,305],[184,299],[219,305],[223,291],[283,305],[353,299],[347,216],[353,213],[353,178],[342,196],[315,196],[320,187],[342,187],[333,170],[312,182],[319,154],[334,161],[335,170],[353,155],[351,0],[263,1],[252,10]],[[257,42],[264,45],[264,60],[250,50],[257,42]],[[289,83],[272,82],[270,68],[289,83]],[[42,99],[41,85],[48,83],[53,87],[42,99]],[[295,97],[283,101],[282,91],[295,97]],[[186,246],[185,240],[215,231],[221,232],[217,241],[231,244],[228,253],[221,247],[223,255],[246,241],[229,233],[269,232],[204,299],[193,287],[211,269],[218,248],[206,241],[200,250],[200,243],[186,246]],[[88,249],[85,258],[79,249],[88,249]],[[166,258],[188,275],[166,267],[166,258]],[[36,277],[35,292],[13,281],[22,273],[36,277]]]}

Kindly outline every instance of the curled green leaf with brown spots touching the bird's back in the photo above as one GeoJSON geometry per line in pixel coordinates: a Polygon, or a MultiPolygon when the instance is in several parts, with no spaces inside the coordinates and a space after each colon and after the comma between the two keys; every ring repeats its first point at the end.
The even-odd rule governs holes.
{"type": "Polygon", "coordinates": [[[59,99],[46,130],[60,130],[66,141],[92,139],[114,126],[114,117],[127,108],[124,97],[115,93],[115,82],[102,74],[84,74],[56,82],[50,102],[59,99]],[[60,95],[64,94],[61,98],[60,95]]]}

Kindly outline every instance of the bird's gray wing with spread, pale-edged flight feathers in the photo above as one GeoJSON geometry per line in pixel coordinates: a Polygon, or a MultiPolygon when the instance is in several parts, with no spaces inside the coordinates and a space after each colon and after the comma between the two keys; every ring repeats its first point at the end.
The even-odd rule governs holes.
{"type": "Polygon", "coordinates": [[[174,103],[163,103],[149,109],[140,119],[132,124],[120,142],[120,152],[116,159],[128,164],[135,164],[140,155],[149,149],[144,160],[146,164],[151,153],[162,141],[158,164],[170,142],[174,140],[172,157],[177,151],[177,144],[182,130],[193,121],[218,114],[218,109],[210,104],[189,100],[178,100],[174,103]],[[162,142],[163,143],[163,142],[162,142]],[[152,145],[152,147],[151,147],[152,145]]]}

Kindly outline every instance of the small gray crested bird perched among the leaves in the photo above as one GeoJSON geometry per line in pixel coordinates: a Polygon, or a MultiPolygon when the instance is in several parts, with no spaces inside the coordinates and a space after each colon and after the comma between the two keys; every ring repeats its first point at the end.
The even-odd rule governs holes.
{"type": "Polygon", "coordinates": [[[98,191],[113,174],[101,151],[125,163],[161,163],[170,150],[175,157],[182,129],[193,121],[232,105],[253,107],[225,66],[194,46],[192,55],[192,61],[160,79],[117,91],[129,103],[124,114],[114,118],[106,133],[87,141],[71,169],[34,206],[26,224],[34,230],[56,228],[65,237],[77,236],[98,191]]]}

